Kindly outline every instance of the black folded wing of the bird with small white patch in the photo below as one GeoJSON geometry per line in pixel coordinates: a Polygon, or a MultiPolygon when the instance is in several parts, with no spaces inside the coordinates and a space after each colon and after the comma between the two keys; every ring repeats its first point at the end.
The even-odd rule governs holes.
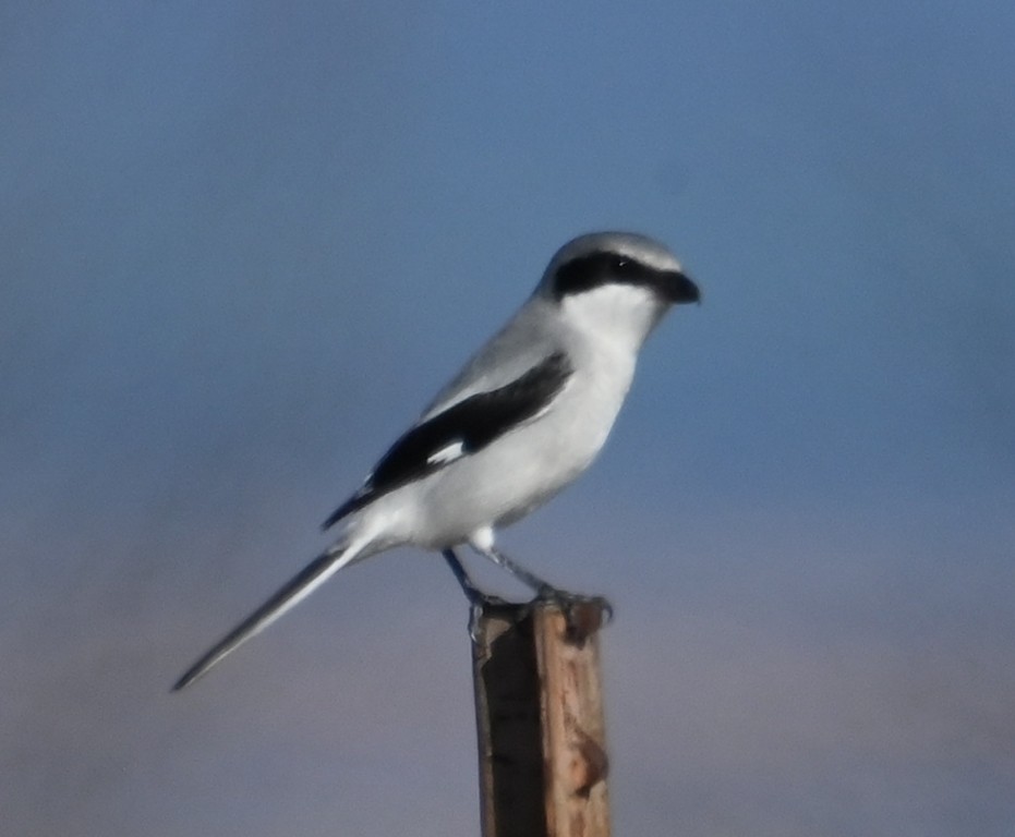
{"type": "Polygon", "coordinates": [[[418,424],[391,446],[363,487],[339,506],[323,527],[383,494],[482,450],[546,408],[572,373],[567,355],[555,352],[510,384],[470,396],[418,424]]]}

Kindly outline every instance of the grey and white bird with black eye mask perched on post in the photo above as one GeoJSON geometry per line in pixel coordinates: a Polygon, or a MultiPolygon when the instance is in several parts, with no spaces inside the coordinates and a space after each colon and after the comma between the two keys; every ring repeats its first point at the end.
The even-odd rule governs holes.
{"type": "MultiPolygon", "coordinates": [[[[633,232],[579,235],[551,258],[535,290],[324,521],[331,544],[213,645],[179,691],[343,567],[398,546],[440,553],[478,608],[487,597],[456,549],[511,572],[539,598],[576,598],[496,544],[507,526],[575,482],[613,428],[638,354],[696,282],[658,241],[633,232]]],[[[473,611],[474,612],[474,611],[473,611]]]]}

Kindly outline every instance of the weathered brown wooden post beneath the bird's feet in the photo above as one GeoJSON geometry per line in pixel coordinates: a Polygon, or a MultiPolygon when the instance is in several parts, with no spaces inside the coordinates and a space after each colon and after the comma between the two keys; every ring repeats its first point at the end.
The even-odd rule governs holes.
{"type": "Polygon", "coordinates": [[[485,608],[473,644],[483,837],[608,837],[603,606],[485,608]]]}

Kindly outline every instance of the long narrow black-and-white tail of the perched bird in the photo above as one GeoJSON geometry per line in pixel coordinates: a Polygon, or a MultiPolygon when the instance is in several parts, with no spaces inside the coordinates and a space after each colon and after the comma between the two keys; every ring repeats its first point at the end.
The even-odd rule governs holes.
{"type": "Polygon", "coordinates": [[[172,691],[185,689],[252,636],[261,633],[282,614],[295,607],[306,596],[349,563],[363,549],[363,545],[331,547],[318,555],[297,575],[285,584],[274,596],[254,610],[246,619],[233,628],[226,636],[213,645],[173,683],[172,691]]]}

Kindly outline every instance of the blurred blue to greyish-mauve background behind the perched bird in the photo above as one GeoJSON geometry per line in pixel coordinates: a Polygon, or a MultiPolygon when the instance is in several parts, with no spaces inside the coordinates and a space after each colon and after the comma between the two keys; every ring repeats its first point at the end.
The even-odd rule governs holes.
{"type": "Polygon", "coordinates": [[[169,687],[560,244],[628,229],[704,304],[500,537],[614,604],[615,832],[1012,834],[1013,33],[998,0],[4,3],[5,833],[476,834],[433,555],[169,687]]]}

